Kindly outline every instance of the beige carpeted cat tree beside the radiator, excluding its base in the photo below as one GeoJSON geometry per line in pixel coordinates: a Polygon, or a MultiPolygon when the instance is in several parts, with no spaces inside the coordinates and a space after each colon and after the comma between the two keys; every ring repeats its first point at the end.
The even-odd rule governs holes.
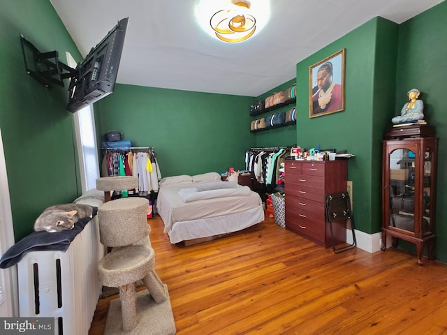
{"type": "MultiPolygon", "coordinates": [[[[102,181],[101,178],[98,179],[96,181],[96,184],[99,184],[98,189],[116,190],[117,186],[113,185],[116,178],[119,177],[105,177],[102,181]]],[[[126,177],[121,177],[122,182],[119,182],[118,189],[133,188],[129,187],[130,179],[123,178],[126,177]]],[[[103,285],[119,288],[124,332],[131,332],[138,327],[135,282],[143,280],[156,304],[163,304],[169,300],[166,285],[161,282],[154,269],[154,249],[150,246],[148,238],[150,231],[147,224],[148,204],[146,198],[132,197],[105,202],[98,207],[101,243],[113,247],[112,251],[98,263],[98,274],[103,285]]],[[[106,329],[107,326],[106,322],[106,329]]],[[[116,330],[116,327],[114,329],[116,330]]],[[[115,330],[113,334],[118,334],[115,330]]]]}

